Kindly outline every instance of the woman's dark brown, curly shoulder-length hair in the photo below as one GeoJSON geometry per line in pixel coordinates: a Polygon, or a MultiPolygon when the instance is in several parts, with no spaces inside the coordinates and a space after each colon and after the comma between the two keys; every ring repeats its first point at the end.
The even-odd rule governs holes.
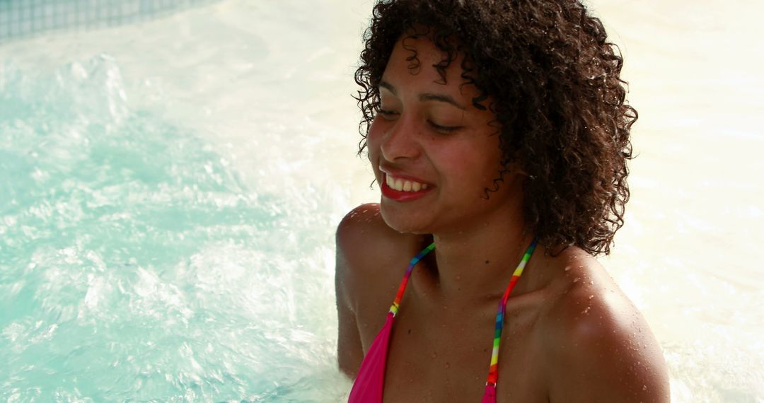
{"type": "MultiPolygon", "coordinates": [[[[380,0],[364,34],[355,81],[366,147],[380,108],[379,84],[401,37],[426,35],[442,50],[445,81],[457,56],[462,85],[490,109],[502,150],[494,189],[511,167],[526,173],[527,230],[553,250],[610,253],[629,199],[626,162],[636,110],[626,103],[623,58],[578,0],[380,0]]],[[[412,69],[416,50],[409,49],[412,69]]]]}

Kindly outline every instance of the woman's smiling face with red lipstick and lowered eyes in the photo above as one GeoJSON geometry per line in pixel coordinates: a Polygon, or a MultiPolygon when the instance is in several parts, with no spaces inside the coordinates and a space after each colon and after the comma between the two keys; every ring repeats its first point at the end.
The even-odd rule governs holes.
{"type": "Polygon", "coordinates": [[[412,74],[406,62],[410,52],[416,50],[424,66],[443,57],[432,40],[412,34],[390,56],[380,82],[379,118],[367,137],[384,195],[380,211],[387,225],[400,232],[432,234],[455,226],[463,231],[479,221],[470,210],[484,214],[508,208],[507,195],[520,188],[516,175],[509,175],[505,185],[484,197],[501,170],[499,137],[491,135],[494,117],[471,105],[478,91],[461,85],[458,69],[445,70],[446,83],[435,69],[412,74]],[[415,184],[422,184],[418,191],[415,184]],[[429,214],[422,214],[422,208],[429,214]]]}

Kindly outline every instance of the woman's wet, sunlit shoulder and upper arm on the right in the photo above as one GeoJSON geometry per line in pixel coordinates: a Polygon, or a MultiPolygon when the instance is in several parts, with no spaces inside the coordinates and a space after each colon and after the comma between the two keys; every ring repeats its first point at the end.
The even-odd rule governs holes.
{"type": "Polygon", "coordinates": [[[669,401],[661,349],[642,314],[578,248],[561,266],[543,321],[550,401],[669,401]]]}

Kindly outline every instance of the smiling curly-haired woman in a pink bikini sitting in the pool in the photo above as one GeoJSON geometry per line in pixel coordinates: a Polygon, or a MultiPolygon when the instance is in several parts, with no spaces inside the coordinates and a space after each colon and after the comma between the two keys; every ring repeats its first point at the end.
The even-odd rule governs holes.
{"type": "Polygon", "coordinates": [[[382,195],[337,231],[349,401],[669,401],[593,257],[623,224],[636,120],[601,22],[574,0],[384,0],[365,40],[382,195]]]}

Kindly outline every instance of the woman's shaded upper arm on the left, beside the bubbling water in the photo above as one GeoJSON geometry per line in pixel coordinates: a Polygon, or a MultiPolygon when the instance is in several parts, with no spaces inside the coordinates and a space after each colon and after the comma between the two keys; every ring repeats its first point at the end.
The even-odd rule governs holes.
{"type": "Polygon", "coordinates": [[[354,378],[364,359],[364,350],[361,343],[361,334],[358,330],[356,318],[357,301],[354,301],[358,289],[357,267],[354,270],[352,264],[353,254],[358,250],[359,237],[358,219],[364,206],[355,208],[345,215],[337,228],[336,266],[335,266],[335,292],[337,295],[337,360],[339,369],[346,375],[354,378]]]}

